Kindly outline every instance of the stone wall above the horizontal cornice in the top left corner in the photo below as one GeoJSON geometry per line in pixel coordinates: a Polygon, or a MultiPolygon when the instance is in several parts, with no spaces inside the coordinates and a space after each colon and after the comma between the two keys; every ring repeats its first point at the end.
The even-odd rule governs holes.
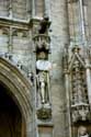
{"type": "Polygon", "coordinates": [[[0,16],[27,20],[31,7],[30,0],[0,0],[0,16]]]}

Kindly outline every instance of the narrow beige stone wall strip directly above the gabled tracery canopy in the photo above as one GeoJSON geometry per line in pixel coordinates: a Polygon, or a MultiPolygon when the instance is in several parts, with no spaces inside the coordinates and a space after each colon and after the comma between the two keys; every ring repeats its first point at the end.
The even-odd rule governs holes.
{"type": "Polygon", "coordinates": [[[70,32],[70,46],[72,44],[80,44],[81,38],[81,21],[79,13],[79,1],[68,1],[68,18],[69,18],[69,32],[70,32]]]}

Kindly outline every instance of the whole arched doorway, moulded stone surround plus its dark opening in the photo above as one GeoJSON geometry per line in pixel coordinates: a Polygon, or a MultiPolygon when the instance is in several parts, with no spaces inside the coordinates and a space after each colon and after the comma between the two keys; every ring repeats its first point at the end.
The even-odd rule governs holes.
{"type": "Polygon", "coordinates": [[[0,57],[0,137],[33,137],[31,82],[0,57]]]}

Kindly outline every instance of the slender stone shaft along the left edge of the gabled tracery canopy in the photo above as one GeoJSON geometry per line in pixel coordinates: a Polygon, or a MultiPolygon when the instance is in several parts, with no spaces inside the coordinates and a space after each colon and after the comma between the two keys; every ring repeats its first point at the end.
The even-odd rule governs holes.
{"type": "Polygon", "coordinates": [[[70,94],[69,94],[69,72],[65,71],[65,80],[66,80],[66,99],[67,99],[67,117],[68,117],[68,128],[69,128],[69,137],[71,137],[71,119],[70,119],[70,94]]]}

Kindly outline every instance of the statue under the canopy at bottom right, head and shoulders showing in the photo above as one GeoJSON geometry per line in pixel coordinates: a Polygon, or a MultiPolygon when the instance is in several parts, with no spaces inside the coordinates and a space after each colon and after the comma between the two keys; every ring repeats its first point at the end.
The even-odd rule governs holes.
{"type": "Polygon", "coordinates": [[[83,125],[79,126],[78,137],[91,137],[91,135],[88,133],[88,129],[86,126],[83,126],[83,125]]]}

